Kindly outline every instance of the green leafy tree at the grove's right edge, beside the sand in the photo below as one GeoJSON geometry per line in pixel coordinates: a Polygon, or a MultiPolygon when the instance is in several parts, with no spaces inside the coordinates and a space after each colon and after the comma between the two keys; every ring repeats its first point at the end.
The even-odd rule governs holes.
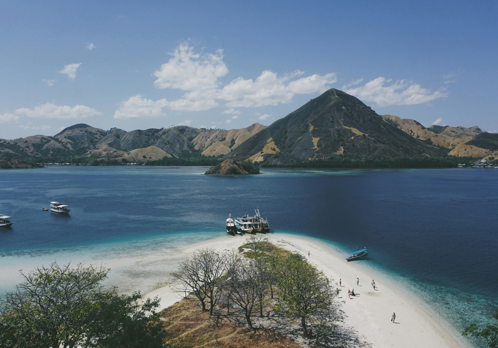
{"type": "Polygon", "coordinates": [[[299,254],[292,254],[281,262],[278,272],[278,289],[282,300],[275,311],[285,311],[301,322],[303,333],[313,316],[332,306],[335,291],[329,279],[299,254]]]}

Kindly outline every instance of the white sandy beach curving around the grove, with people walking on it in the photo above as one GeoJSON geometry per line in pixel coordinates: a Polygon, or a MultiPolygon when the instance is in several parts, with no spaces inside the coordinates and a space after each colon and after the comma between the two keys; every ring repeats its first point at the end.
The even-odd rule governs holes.
{"type": "MultiPolygon", "coordinates": [[[[249,236],[226,236],[194,244],[178,253],[188,257],[194,250],[202,247],[217,251],[232,250],[241,246],[249,236]]],[[[359,270],[354,262],[347,262],[335,255],[333,250],[318,240],[298,237],[289,234],[268,235],[275,245],[299,252],[307,256],[309,261],[321,269],[335,283],[342,279],[339,301],[345,312],[344,326],[353,328],[366,347],[461,347],[421,308],[399,291],[388,287],[382,279],[359,270]],[[360,286],[356,284],[360,278],[360,286]],[[375,288],[371,285],[375,280],[375,288]],[[348,298],[348,289],[355,289],[356,297],[348,298]],[[390,319],[396,313],[393,324],[390,319]]],[[[178,255],[179,256],[179,255],[178,255]]],[[[338,286],[338,285],[337,285],[338,286]]],[[[161,297],[161,308],[166,308],[177,302],[180,297],[164,286],[151,291],[148,297],[161,297]]]]}

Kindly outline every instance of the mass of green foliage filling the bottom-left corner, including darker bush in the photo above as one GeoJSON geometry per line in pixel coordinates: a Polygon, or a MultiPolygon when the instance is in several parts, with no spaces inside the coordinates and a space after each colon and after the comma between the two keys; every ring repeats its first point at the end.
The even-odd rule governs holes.
{"type": "Polygon", "coordinates": [[[109,269],[78,264],[22,273],[24,282],[0,302],[0,347],[155,348],[164,331],[157,324],[159,300],[105,290],[109,269]]]}

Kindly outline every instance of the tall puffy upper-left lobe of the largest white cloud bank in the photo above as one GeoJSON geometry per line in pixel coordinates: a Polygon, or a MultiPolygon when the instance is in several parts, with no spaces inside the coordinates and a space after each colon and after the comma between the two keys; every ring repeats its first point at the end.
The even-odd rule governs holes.
{"type": "Polygon", "coordinates": [[[173,58],[153,74],[157,78],[154,85],[158,88],[213,89],[220,84],[218,78],[228,74],[223,50],[215,54],[194,54],[193,47],[182,43],[171,55],[173,58]]]}

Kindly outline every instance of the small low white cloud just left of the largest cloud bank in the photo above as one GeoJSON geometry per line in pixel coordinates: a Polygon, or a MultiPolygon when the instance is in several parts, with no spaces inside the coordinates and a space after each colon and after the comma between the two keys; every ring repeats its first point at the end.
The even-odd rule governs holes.
{"type": "Polygon", "coordinates": [[[152,101],[151,99],[144,98],[143,95],[137,94],[121,102],[120,107],[114,114],[114,118],[126,119],[165,116],[161,108],[166,106],[166,104],[166,99],[152,101]]]}

